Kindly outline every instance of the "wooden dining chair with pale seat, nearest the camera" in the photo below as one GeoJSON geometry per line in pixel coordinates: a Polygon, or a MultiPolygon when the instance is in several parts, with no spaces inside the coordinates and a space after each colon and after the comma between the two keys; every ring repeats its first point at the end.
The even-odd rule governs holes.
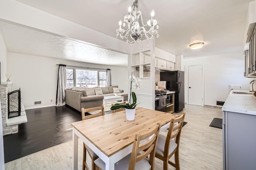
{"type": "MultiPolygon", "coordinates": [[[[132,147],[132,153],[128,154],[115,163],[115,170],[154,170],[154,158],[156,152],[156,143],[158,140],[161,123],[144,133],[136,133],[132,147]],[[145,143],[140,141],[148,139],[145,143]],[[150,154],[149,159],[147,156],[150,154]]],[[[96,159],[95,164],[102,170],[105,170],[105,163],[100,159],[96,159]]]]}

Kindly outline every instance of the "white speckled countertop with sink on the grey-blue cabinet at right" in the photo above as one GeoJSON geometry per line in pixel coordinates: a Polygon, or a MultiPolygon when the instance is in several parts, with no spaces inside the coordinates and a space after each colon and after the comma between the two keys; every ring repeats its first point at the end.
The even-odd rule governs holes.
{"type": "Polygon", "coordinates": [[[251,94],[232,94],[233,91],[249,92],[249,90],[232,90],[222,106],[222,111],[256,115],[256,97],[251,94]]]}

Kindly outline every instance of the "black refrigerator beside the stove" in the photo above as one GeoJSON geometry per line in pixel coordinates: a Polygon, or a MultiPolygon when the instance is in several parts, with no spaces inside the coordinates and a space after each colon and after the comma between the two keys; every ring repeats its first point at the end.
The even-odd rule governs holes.
{"type": "Polygon", "coordinates": [[[160,72],[160,81],[166,81],[166,90],[175,91],[174,111],[180,112],[185,107],[184,71],[160,72]]]}

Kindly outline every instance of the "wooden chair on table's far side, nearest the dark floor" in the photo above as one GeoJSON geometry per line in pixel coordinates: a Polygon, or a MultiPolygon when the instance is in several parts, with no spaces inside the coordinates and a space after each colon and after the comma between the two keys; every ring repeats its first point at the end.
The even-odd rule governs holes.
{"type": "MultiPolygon", "coordinates": [[[[88,108],[88,109],[82,108],[82,120],[91,119],[91,118],[102,116],[102,115],[105,115],[104,105],[102,105],[100,107],[93,107],[93,108],[88,108]],[[96,113],[96,114],[87,115],[87,116],[85,115],[86,112],[96,111],[96,110],[101,110],[102,113],[96,113]]],[[[94,160],[96,160],[98,158],[98,156],[89,147],[87,147],[87,145],[84,144],[83,148],[84,149],[83,149],[83,166],[82,166],[82,170],[84,170],[85,168],[87,170],[89,170],[88,164],[86,163],[86,150],[88,151],[88,154],[89,154],[89,156],[92,159],[92,170],[96,170],[96,165],[94,164],[94,160]]]]}

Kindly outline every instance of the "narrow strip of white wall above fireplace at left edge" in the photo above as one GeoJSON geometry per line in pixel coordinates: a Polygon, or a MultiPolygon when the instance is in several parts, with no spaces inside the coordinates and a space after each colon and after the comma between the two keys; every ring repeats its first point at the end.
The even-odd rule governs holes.
{"type": "Polygon", "coordinates": [[[0,31],[0,62],[1,62],[1,80],[6,81],[4,74],[7,74],[7,48],[4,42],[2,32],[0,31]]]}

